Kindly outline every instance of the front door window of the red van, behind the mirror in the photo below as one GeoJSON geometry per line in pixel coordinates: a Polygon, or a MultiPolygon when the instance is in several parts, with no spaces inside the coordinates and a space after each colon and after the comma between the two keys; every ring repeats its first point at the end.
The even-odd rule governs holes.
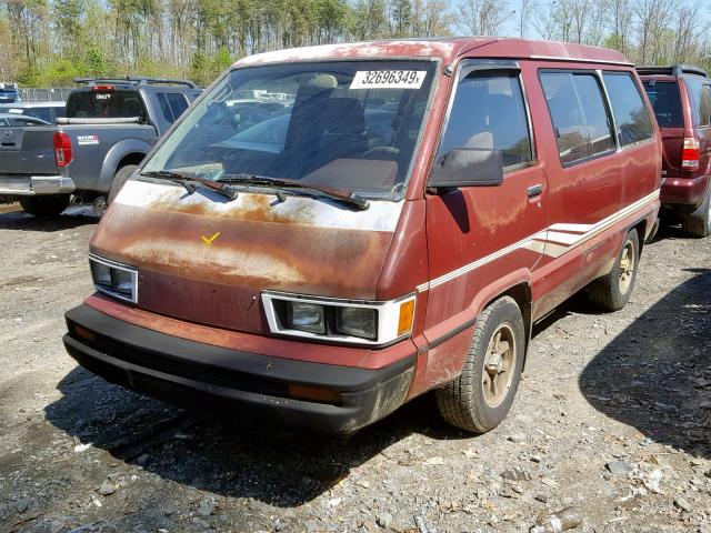
{"type": "Polygon", "coordinates": [[[504,167],[531,161],[528,117],[517,76],[477,73],[460,81],[439,152],[462,148],[500,150],[504,167]]]}

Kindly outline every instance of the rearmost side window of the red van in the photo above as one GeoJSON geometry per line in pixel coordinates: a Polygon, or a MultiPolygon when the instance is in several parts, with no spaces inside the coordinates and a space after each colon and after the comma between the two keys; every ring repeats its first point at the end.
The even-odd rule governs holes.
{"type": "Polygon", "coordinates": [[[621,147],[652,138],[652,122],[637,83],[629,73],[602,74],[621,147]]]}

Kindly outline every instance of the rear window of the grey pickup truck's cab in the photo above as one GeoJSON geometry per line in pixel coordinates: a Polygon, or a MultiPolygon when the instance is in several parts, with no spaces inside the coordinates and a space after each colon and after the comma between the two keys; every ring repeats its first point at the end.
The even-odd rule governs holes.
{"type": "Polygon", "coordinates": [[[138,91],[107,90],[72,92],[67,100],[70,119],[146,118],[146,108],[138,91]]]}

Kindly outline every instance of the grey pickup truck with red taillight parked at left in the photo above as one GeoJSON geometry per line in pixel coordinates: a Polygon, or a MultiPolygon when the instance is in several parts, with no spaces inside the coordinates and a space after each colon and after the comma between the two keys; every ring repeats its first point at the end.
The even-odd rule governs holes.
{"type": "Polygon", "coordinates": [[[57,125],[0,125],[0,197],[56,217],[73,194],[103,211],[118,188],[201,89],[153,78],[77,79],[57,125]],[[112,191],[113,187],[113,191],[112,191]]]}

